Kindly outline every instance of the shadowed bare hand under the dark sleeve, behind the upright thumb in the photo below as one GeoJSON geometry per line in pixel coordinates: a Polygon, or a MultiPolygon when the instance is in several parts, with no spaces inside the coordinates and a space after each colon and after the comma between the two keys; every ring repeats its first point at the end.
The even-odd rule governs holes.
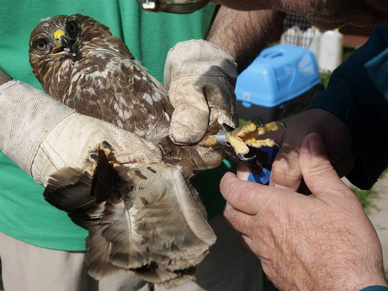
{"type": "MultiPolygon", "coordinates": [[[[355,157],[352,137],[346,126],[333,114],[321,109],[310,109],[283,120],[287,130],[269,133],[269,137],[281,143],[272,165],[270,186],[281,186],[297,191],[302,182],[299,152],[304,138],[317,132],[323,139],[330,162],[340,177],[354,167],[355,157]]],[[[246,180],[250,170],[239,166],[238,177],[246,180]]]]}

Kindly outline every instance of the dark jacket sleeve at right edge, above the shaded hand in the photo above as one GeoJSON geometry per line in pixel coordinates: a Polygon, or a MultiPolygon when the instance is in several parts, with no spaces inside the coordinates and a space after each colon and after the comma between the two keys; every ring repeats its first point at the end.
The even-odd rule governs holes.
{"type": "MultiPolygon", "coordinates": [[[[365,68],[387,48],[388,24],[384,24],[333,72],[327,89],[309,105],[334,114],[349,129],[356,149],[356,165],[346,177],[360,189],[370,189],[388,166],[388,101],[365,68]]],[[[388,66],[379,74],[388,76],[388,66]]]]}

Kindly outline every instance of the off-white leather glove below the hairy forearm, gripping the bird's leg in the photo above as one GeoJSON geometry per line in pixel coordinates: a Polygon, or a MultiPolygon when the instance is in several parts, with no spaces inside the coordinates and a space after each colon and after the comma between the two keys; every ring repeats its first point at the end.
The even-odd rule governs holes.
{"type": "Polygon", "coordinates": [[[174,143],[198,143],[216,118],[237,125],[236,78],[233,58],[207,41],[181,42],[168,52],[164,84],[175,109],[169,132],[174,143]]]}

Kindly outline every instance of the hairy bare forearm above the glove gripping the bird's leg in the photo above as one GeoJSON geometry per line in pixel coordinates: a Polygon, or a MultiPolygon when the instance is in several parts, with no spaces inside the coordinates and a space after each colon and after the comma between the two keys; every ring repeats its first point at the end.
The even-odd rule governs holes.
{"type": "Polygon", "coordinates": [[[277,13],[272,10],[237,11],[220,7],[207,40],[229,53],[241,73],[250,65],[271,35],[277,13]]]}

